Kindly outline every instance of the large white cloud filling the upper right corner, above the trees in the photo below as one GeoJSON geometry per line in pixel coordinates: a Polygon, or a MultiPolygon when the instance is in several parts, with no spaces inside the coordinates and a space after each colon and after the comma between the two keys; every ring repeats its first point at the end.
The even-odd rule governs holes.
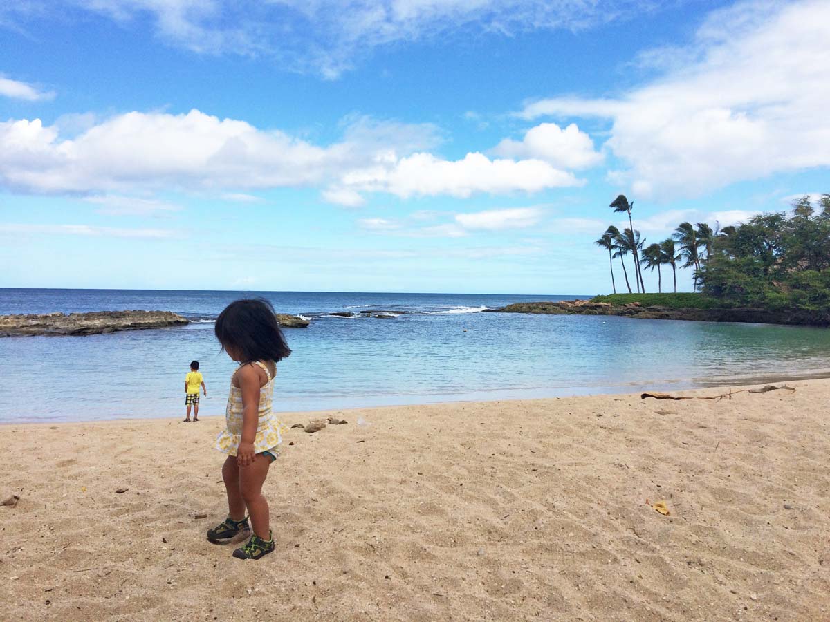
{"type": "Polygon", "coordinates": [[[830,166],[830,2],[741,2],[710,14],[651,84],[613,100],[557,98],[521,116],[608,117],[636,196],[696,197],[830,166]],[[691,59],[691,60],[690,60],[691,59]]]}

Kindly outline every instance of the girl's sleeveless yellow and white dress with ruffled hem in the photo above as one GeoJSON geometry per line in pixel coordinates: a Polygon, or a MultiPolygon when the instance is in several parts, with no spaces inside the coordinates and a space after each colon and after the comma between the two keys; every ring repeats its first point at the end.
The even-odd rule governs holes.
{"type": "MultiPolygon", "coordinates": [[[[261,454],[268,451],[274,455],[279,453],[282,435],[288,430],[288,426],[279,420],[271,410],[271,401],[274,397],[274,378],[268,371],[268,366],[261,361],[255,361],[265,370],[268,381],[260,387],[259,403],[259,424],[256,426],[256,439],[254,440],[254,453],[261,454]]],[[[238,371],[238,370],[237,370],[238,371]]],[[[237,372],[233,372],[236,376],[237,372]]],[[[214,447],[223,454],[236,455],[239,440],[242,438],[242,390],[233,386],[231,377],[231,393],[227,396],[227,407],[225,408],[225,430],[217,436],[214,447]]],[[[275,374],[276,377],[276,374],[275,374]]]]}

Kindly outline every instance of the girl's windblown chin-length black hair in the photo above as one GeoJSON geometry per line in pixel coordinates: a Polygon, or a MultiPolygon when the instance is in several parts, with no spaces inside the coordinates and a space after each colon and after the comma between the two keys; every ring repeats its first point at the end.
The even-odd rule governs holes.
{"type": "Polygon", "coordinates": [[[236,300],[219,313],[214,328],[222,350],[232,346],[242,363],[280,361],[291,348],[280,330],[274,308],[267,300],[236,300]]]}

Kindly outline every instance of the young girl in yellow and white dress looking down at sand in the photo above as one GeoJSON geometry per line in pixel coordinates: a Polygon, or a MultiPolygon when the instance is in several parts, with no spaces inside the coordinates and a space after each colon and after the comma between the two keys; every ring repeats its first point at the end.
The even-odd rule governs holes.
{"type": "Polygon", "coordinates": [[[262,484],[279,454],[286,425],[271,411],[276,362],[291,354],[265,300],[237,300],[219,313],[216,337],[222,349],[239,363],[231,377],[225,411],[226,428],[216,449],[228,454],[222,466],[227,490],[227,518],[207,532],[213,543],[227,541],[253,527],[247,544],[233,552],[240,559],[259,559],[274,550],[268,502],[262,484]],[[247,508],[251,518],[248,526],[247,508]]]}

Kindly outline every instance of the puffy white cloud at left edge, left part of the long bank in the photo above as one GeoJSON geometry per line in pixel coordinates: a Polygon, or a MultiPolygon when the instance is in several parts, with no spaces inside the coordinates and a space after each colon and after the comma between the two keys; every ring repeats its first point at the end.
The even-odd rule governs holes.
{"type": "Polygon", "coordinates": [[[0,183],[30,192],[303,185],[348,151],[198,110],[120,114],[66,140],[24,119],[0,123],[0,183]]]}

